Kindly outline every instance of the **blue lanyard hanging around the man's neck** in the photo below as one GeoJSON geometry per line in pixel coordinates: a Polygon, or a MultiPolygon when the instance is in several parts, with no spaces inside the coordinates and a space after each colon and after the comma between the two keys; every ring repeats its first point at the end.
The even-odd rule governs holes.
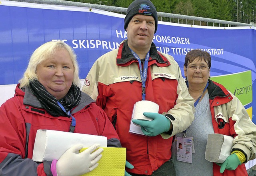
{"type": "Polygon", "coordinates": [[[147,79],[147,72],[148,72],[148,60],[149,60],[149,51],[146,54],[146,58],[145,58],[145,62],[144,62],[144,66],[142,68],[142,64],[140,61],[139,56],[130,48],[133,56],[138,60],[139,62],[139,66],[140,66],[140,78],[142,81],[142,100],[145,100],[146,98],[146,79],[147,79]]]}

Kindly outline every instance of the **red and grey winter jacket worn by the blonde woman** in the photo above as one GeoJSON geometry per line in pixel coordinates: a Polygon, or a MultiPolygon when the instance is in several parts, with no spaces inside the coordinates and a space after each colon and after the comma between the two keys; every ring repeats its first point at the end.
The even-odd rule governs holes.
{"type": "MultiPolygon", "coordinates": [[[[51,116],[29,88],[25,93],[18,86],[14,97],[0,107],[0,175],[52,176],[50,161],[40,163],[32,160],[36,131],[68,132],[72,120],[64,116],[51,116]]],[[[120,147],[111,122],[90,96],[82,92],[82,99],[71,114],[76,118],[75,133],[106,136],[108,147],[120,147]]]]}

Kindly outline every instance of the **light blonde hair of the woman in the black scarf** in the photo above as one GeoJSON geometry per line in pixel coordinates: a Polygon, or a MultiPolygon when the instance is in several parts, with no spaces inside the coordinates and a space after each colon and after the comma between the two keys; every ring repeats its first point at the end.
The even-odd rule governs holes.
{"type": "Polygon", "coordinates": [[[38,77],[36,75],[36,67],[44,60],[52,58],[56,51],[60,49],[65,49],[68,51],[72,60],[72,64],[74,66],[73,84],[80,87],[80,79],[78,76],[79,67],[74,50],[70,46],[68,46],[68,44],[62,41],[56,41],[42,44],[33,52],[32,56],[30,57],[28,67],[24,72],[23,77],[19,80],[20,88],[29,86],[30,81],[38,80],[38,77]]]}

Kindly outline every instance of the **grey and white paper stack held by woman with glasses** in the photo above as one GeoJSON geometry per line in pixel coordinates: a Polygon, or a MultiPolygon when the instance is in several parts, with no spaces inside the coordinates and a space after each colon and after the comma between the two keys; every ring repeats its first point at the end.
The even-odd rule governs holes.
{"type": "Polygon", "coordinates": [[[231,154],[234,138],[224,134],[208,134],[205,159],[223,163],[231,154]]]}

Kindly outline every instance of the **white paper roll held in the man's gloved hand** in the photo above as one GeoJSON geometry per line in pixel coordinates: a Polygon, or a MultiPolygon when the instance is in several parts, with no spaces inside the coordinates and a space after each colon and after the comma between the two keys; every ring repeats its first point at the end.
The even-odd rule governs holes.
{"type": "Polygon", "coordinates": [[[143,112],[156,112],[158,113],[159,106],[155,102],[151,102],[148,100],[142,100],[135,103],[133,119],[136,120],[148,120],[151,121],[152,118],[147,118],[143,115],[143,112]]]}

